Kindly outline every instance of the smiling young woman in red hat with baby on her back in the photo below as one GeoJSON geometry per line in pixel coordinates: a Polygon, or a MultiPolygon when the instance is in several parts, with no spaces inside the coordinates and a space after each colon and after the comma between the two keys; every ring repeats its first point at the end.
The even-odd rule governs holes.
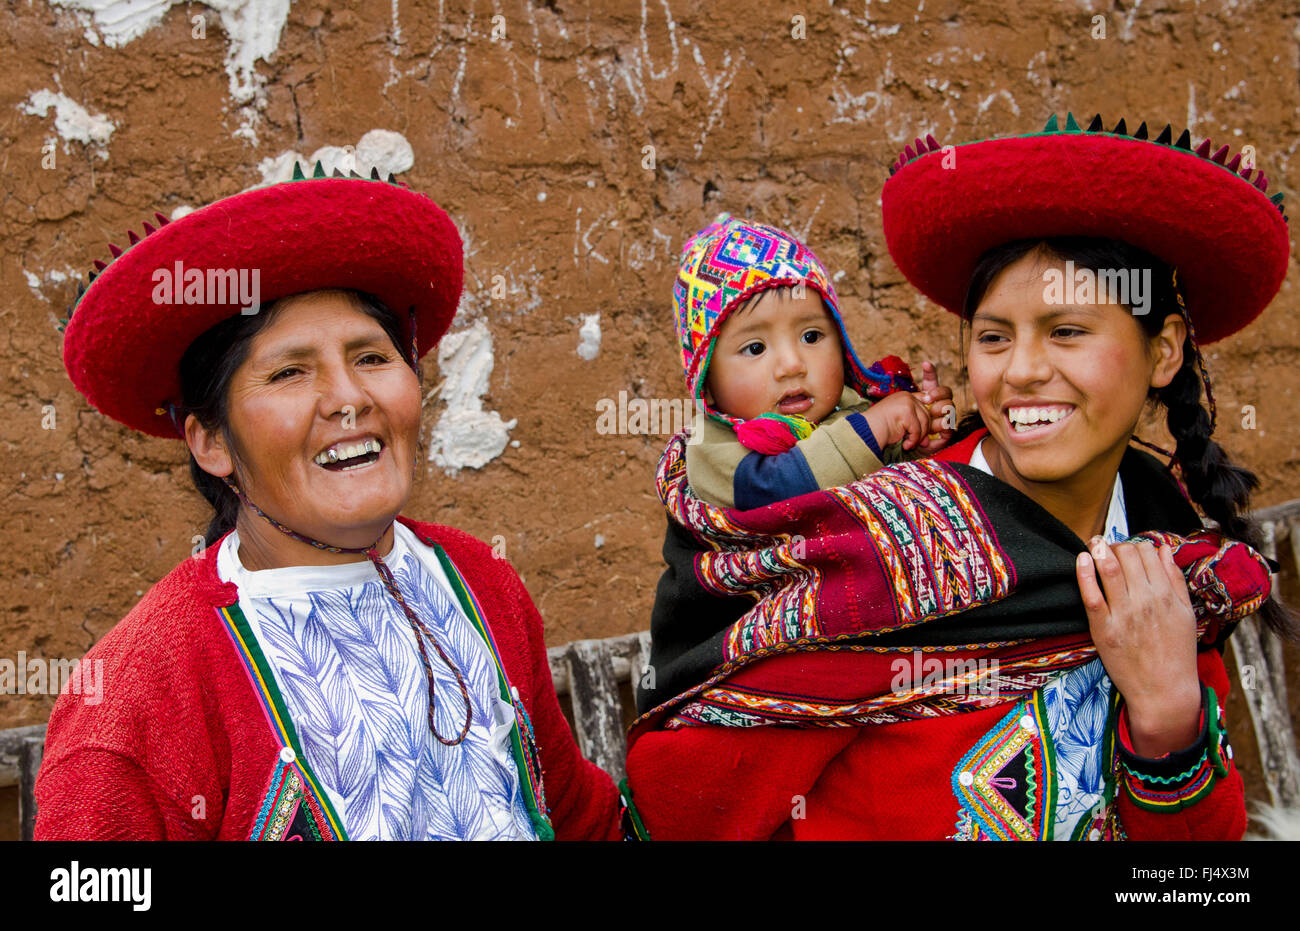
{"type": "Polygon", "coordinates": [[[1294,628],[1234,542],[1254,479],[1212,439],[1196,334],[1262,312],[1286,224],[1226,150],[1098,130],[918,142],[884,187],[900,269],[970,328],[952,447],[786,505],[792,545],[685,498],[670,446],[642,832],[1242,836],[1222,648],[1261,606],[1294,628]],[[1182,488],[1130,445],[1148,403],[1182,488]]]}

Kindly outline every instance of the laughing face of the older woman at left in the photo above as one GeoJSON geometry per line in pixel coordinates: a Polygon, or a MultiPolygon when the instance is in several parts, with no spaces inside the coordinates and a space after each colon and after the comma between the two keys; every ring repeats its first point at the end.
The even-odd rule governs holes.
{"type": "MultiPolygon", "coordinates": [[[[281,303],[252,338],[230,381],[229,425],[234,480],[250,501],[321,542],[369,546],[411,494],[420,384],[351,295],[313,291],[281,303]]],[[[226,460],[200,464],[229,475],[217,445],[226,460]]],[[[281,537],[260,519],[254,525],[281,537]]]]}

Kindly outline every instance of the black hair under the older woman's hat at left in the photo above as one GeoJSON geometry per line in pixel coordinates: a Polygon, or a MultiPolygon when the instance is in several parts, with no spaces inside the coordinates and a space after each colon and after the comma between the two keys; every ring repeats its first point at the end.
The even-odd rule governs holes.
{"type": "MultiPolygon", "coordinates": [[[[400,352],[402,358],[420,373],[417,361],[412,361],[411,354],[402,348],[404,334],[402,321],[398,315],[390,311],[382,300],[363,291],[344,291],[348,294],[356,309],[384,328],[393,341],[393,347],[400,352]]],[[[178,420],[185,424],[187,415],[198,417],[203,428],[209,432],[221,430],[226,446],[233,452],[235,463],[235,480],[243,488],[243,479],[239,472],[240,455],[235,446],[234,436],[230,432],[230,380],[243,365],[256,337],[266,325],[274,320],[285,299],[264,304],[254,313],[235,315],[222,320],[216,326],[199,335],[181,356],[181,410],[178,420]]],[[[190,454],[190,480],[195,489],[209,505],[212,505],[212,519],[208,529],[203,534],[204,546],[212,546],[226,532],[234,529],[235,519],[239,516],[239,498],[222,479],[205,472],[199,466],[194,454],[190,454]]]]}

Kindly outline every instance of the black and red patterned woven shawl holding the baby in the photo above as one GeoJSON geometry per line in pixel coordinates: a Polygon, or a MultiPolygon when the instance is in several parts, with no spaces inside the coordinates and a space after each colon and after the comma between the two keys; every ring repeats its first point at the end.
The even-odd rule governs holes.
{"type": "MultiPolygon", "coordinates": [[[[685,441],[673,437],[656,476],[668,571],[634,736],[958,714],[1091,661],[1074,571],[1083,541],[958,462],[979,438],[941,454],[948,460],[736,511],[692,493],[685,441]]],[[[1269,594],[1264,558],[1201,529],[1145,452],[1130,449],[1119,473],[1134,537],[1171,545],[1202,648],[1222,644],[1269,594]]]]}

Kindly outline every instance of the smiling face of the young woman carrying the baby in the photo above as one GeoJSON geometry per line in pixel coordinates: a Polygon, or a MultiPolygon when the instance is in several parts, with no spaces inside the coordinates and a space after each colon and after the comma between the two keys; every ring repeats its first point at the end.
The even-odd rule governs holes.
{"type": "Polygon", "coordinates": [[[1183,360],[1176,315],[1148,338],[1123,304],[1048,303],[1053,268],[1065,274],[1063,260],[1041,248],[1008,265],[975,309],[967,350],[989,430],[984,455],[1027,493],[1113,482],[1149,389],[1167,385],[1183,360]]]}

